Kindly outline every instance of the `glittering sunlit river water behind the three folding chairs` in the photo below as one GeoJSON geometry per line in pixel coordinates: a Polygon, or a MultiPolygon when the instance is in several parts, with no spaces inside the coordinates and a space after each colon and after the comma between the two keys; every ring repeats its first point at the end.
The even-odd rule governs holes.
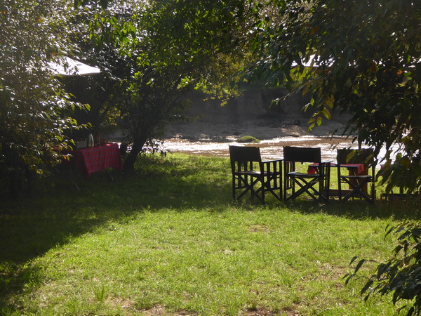
{"type": "MultiPolygon", "coordinates": [[[[218,140],[204,138],[200,140],[189,140],[185,138],[168,138],[164,140],[163,148],[169,152],[184,152],[188,154],[200,154],[211,157],[229,157],[229,145],[247,145],[260,147],[262,159],[279,159],[283,156],[283,146],[300,147],[321,147],[323,160],[335,161],[336,149],[352,147],[351,138],[342,137],[321,137],[321,136],[300,136],[300,137],[280,137],[268,140],[260,140],[260,143],[237,143],[236,138],[227,137],[218,140]]],[[[385,152],[380,152],[384,157],[385,152]]],[[[381,158],[381,157],[379,157],[381,158]]]]}

